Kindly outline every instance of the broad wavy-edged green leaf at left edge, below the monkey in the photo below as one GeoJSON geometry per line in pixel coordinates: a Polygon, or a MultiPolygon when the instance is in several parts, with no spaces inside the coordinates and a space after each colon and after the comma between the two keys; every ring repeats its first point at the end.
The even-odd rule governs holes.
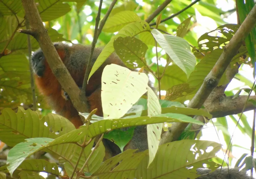
{"type": "Polygon", "coordinates": [[[8,146],[32,137],[57,138],[75,129],[70,121],[57,114],[49,113],[40,119],[38,113],[30,109],[25,111],[22,107],[19,107],[17,113],[9,108],[1,113],[0,140],[8,146]]]}

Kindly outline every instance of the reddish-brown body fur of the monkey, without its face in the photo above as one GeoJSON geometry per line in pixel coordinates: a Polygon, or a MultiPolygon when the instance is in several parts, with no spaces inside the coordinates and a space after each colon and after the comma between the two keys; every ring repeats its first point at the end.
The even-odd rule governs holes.
{"type": "MultiPolygon", "coordinates": [[[[82,46],[82,45],[73,45],[68,46],[66,44],[59,43],[56,47],[56,50],[66,65],[70,75],[75,80],[78,87],[82,87],[84,82],[84,74],[87,64],[87,57],[84,57],[84,61],[80,58],[79,55],[76,56],[78,53],[86,52],[89,56],[90,47],[89,46],[82,46]],[[77,59],[76,59],[77,58],[77,59]],[[70,66],[70,61],[75,60],[77,66],[70,66]],[[77,70],[80,66],[81,71],[77,70]]],[[[100,54],[100,49],[95,49],[93,62],[96,60],[98,55],[100,54]]],[[[88,103],[90,105],[90,111],[95,108],[98,108],[97,112],[95,113],[98,116],[103,116],[102,113],[102,106],[101,106],[101,74],[104,67],[108,64],[117,64],[124,66],[124,63],[115,55],[111,55],[100,68],[92,75],[89,80],[89,83],[86,86],[86,96],[88,99],[88,103]]],[[[76,128],[83,125],[80,116],[78,115],[77,110],[73,106],[71,100],[67,100],[63,98],[63,89],[61,88],[60,83],[58,82],[57,78],[52,73],[47,60],[44,63],[45,70],[44,75],[39,77],[35,74],[35,82],[36,86],[45,97],[49,105],[51,105],[53,110],[60,114],[67,119],[69,119],[76,128]]],[[[90,69],[91,70],[91,69],[90,69]]]]}

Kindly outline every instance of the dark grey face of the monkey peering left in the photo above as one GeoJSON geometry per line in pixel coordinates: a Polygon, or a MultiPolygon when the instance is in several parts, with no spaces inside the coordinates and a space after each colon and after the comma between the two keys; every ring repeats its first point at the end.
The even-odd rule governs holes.
{"type": "Polygon", "coordinates": [[[36,51],[31,58],[32,67],[34,69],[34,72],[39,77],[43,77],[44,70],[45,70],[45,58],[42,51],[36,51]]]}

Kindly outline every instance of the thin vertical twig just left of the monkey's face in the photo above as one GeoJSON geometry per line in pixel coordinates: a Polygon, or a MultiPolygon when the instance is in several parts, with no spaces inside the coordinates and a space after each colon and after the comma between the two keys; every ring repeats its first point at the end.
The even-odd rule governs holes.
{"type": "MultiPolygon", "coordinates": [[[[28,19],[25,17],[26,21],[26,28],[29,29],[29,22],[28,19]]],[[[35,83],[34,83],[34,76],[33,76],[33,69],[31,64],[31,41],[30,35],[28,36],[28,59],[29,59],[29,69],[30,69],[30,84],[31,84],[31,91],[32,91],[32,98],[33,98],[33,110],[36,111],[36,92],[35,92],[35,83]]]]}

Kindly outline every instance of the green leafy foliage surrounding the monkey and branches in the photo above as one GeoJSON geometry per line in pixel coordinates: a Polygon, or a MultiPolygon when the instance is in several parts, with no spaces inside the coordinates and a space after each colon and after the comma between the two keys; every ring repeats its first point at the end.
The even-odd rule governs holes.
{"type": "MultiPolygon", "coordinates": [[[[202,132],[197,134],[195,131],[199,129],[194,128],[196,125],[204,127],[204,123],[215,116],[208,113],[209,107],[192,109],[186,105],[197,97],[196,92],[205,77],[212,70],[219,70],[214,65],[240,25],[225,22],[226,12],[216,6],[215,0],[201,0],[175,18],[159,23],[191,3],[173,0],[154,18],[152,22],[157,21],[156,25],[147,22],[163,2],[144,0],[138,4],[138,1],[127,0],[114,6],[96,43],[104,48],[89,78],[114,52],[128,68],[140,70],[134,72],[114,64],[105,67],[101,85],[104,116],[80,113],[85,124],[76,129],[68,119],[52,113],[38,90],[32,89],[28,36],[17,31],[26,29],[21,1],[0,1],[0,141],[4,144],[4,147],[0,145],[0,154],[5,153],[7,157],[0,163],[0,178],[192,179],[199,176],[196,168],[204,168],[203,164],[212,170],[220,166],[222,160],[215,156],[221,144],[196,140],[202,132]],[[216,27],[196,33],[194,28],[200,22],[199,16],[211,19],[216,27]],[[151,74],[150,78],[142,73],[144,70],[151,74]],[[148,81],[160,93],[160,99],[148,81]],[[34,93],[37,111],[31,110],[34,93]],[[198,121],[195,116],[201,116],[204,121],[198,121]],[[163,130],[168,131],[167,128],[177,122],[189,123],[179,141],[161,144],[163,130]],[[147,128],[146,151],[124,150],[133,137],[138,137],[133,136],[136,126],[147,128]],[[122,153],[109,158],[103,137],[117,144],[122,153]]],[[[99,1],[36,0],[36,3],[52,42],[92,43],[99,1]]],[[[101,20],[111,3],[110,0],[103,2],[101,20]]],[[[253,5],[253,1],[238,4],[237,15],[241,23],[253,5]]],[[[213,99],[208,98],[212,104],[222,103],[226,95],[237,100],[243,90],[248,94],[255,91],[248,77],[237,73],[245,64],[254,67],[255,71],[255,33],[254,28],[232,58],[216,88],[223,88],[225,94],[224,90],[221,95],[214,91],[213,99]],[[243,86],[226,88],[234,77],[244,82],[243,86]]],[[[37,48],[36,39],[31,37],[30,50],[37,48]]],[[[255,77],[255,72],[252,74],[255,77]]],[[[247,101],[253,106],[255,99],[247,101]]],[[[223,111],[229,111],[228,107],[223,111]]],[[[224,113],[215,122],[216,131],[221,130],[229,152],[233,151],[233,146],[229,145],[232,136],[227,127],[235,123],[242,134],[253,134],[245,115],[240,115],[239,120],[235,117],[241,112],[224,113]]],[[[247,155],[239,156],[236,167],[245,164],[245,169],[251,169],[252,164],[255,166],[255,159],[247,155]]]]}

